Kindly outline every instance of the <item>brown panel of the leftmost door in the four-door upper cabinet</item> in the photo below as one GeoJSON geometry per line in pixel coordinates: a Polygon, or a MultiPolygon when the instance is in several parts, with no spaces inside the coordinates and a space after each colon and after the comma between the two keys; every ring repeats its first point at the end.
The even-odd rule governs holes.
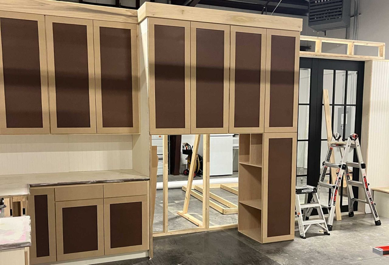
{"type": "Polygon", "coordinates": [[[185,128],[185,28],[154,26],[156,128],[185,128]]]}

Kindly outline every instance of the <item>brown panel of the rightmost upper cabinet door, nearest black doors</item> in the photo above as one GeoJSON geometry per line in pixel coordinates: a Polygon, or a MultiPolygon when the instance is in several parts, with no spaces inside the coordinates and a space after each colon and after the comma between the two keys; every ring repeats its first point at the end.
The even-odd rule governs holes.
{"type": "Polygon", "coordinates": [[[272,35],[270,127],[293,127],[295,37],[272,35]]]}

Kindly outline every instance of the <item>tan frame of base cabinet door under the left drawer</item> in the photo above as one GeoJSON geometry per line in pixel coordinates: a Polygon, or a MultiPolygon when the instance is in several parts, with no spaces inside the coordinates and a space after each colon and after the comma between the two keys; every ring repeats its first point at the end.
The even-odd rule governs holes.
{"type": "Polygon", "coordinates": [[[90,258],[104,255],[104,217],[103,217],[103,199],[90,200],[72,200],[55,203],[56,211],[56,236],[57,236],[57,261],[72,260],[79,258],[90,258]],[[67,207],[97,206],[97,234],[98,249],[78,253],[63,253],[63,229],[62,229],[62,209],[67,207]]]}

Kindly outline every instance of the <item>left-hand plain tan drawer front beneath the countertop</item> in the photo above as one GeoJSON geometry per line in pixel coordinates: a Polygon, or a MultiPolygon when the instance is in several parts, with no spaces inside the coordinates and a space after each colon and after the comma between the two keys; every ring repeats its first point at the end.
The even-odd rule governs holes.
{"type": "Polygon", "coordinates": [[[99,199],[103,197],[103,185],[71,185],[55,188],[55,201],[99,199]]]}

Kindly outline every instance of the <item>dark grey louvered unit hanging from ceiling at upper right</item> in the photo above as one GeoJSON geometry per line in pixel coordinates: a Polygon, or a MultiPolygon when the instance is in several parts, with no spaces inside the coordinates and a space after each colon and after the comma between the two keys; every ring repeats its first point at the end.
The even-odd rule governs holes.
{"type": "Polygon", "coordinates": [[[348,28],[351,0],[309,0],[308,26],[317,31],[348,28]]]}

